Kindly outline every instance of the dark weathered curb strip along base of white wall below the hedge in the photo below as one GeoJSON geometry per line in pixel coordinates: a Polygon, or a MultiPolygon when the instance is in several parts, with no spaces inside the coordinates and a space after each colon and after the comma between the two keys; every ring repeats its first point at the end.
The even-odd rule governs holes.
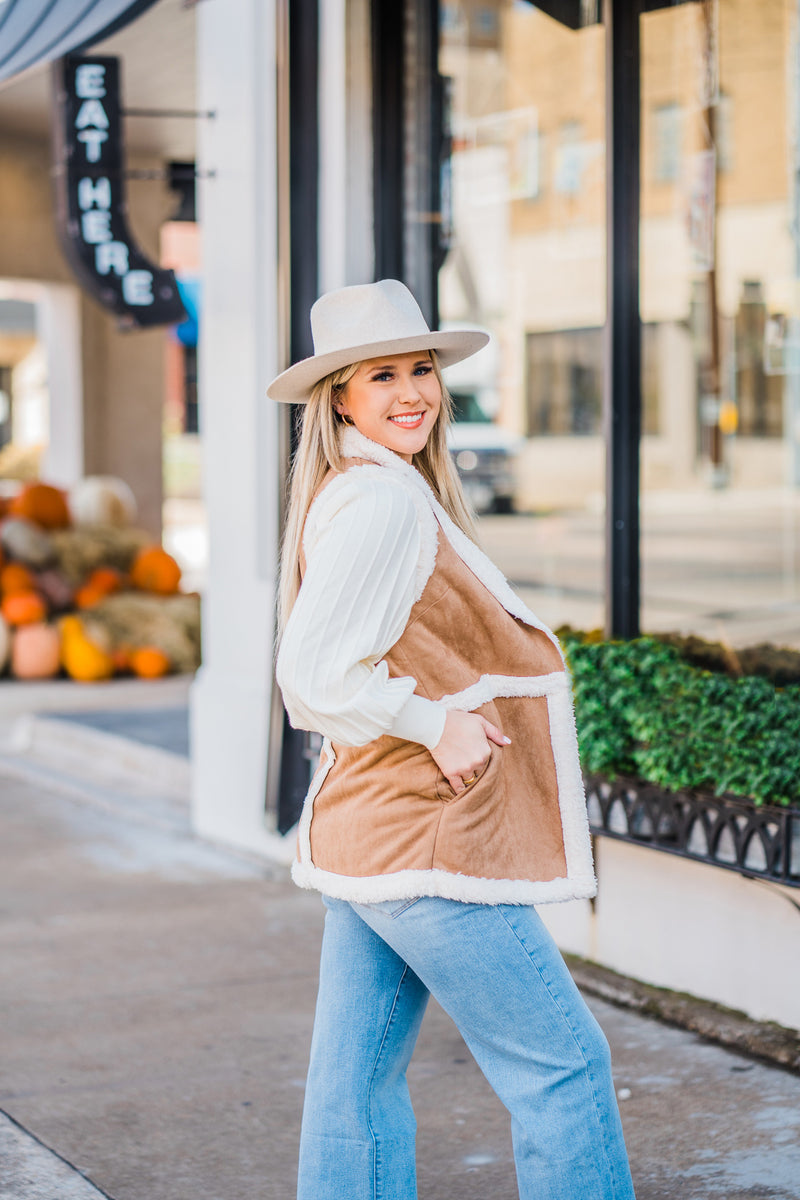
{"type": "Polygon", "coordinates": [[[705,1042],[800,1075],[800,1032],[796,1030],[774,1021],[754,1021],[746,1013],[686,992],[655,988],[575,954],[564,958],[578,988],[591,996],[643,1016],[655,1016],[666,1025],[697,1033],[705,1042]]]}

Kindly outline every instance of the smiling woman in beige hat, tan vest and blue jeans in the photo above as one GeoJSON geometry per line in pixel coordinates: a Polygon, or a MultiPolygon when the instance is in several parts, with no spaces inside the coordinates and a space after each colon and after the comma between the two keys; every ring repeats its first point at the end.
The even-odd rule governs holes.
{"type": "Polygon", "coordinates": [[[428,330],[384,280],[312,308],[277,677],[325,736],[293,876],[327,907],[299,1200],[413,1200],[405,1069],[429,994],[512,1117],[524,1200],[633,1195],[607,1043],[533,907],[595,880],[554,636],[474,541],[428,330]]]}

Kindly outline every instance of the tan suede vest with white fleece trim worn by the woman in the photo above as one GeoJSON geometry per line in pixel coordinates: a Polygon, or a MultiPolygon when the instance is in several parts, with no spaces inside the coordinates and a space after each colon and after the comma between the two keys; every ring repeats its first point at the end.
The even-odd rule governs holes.
{"type": "Polygon", "coordinates": [[[301,822],[295,880],[362,901],[591,895],[561,654],[549,631],[506,611],[453,547],[439,516],[433,571],[385,661],[390,676],[416,679],[419,695],[481,713],[511,745],[492,745],[476,780],[453,793],[416,742],[384,736],[362,746],[326,743],[301,822]]]}

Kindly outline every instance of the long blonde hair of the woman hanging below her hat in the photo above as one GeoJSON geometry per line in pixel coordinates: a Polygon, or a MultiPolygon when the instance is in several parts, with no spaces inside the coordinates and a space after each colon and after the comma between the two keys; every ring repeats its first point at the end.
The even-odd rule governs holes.
{"type": "MultiPolygon", "coordinates": [[[[447,426],[452,421],[452,400],[441,378],[434,350],[431,350],[433,372],[441,388],[441,407],[423,449],[414,455],[413,464],[431,485],[447,516],[473,541],[477,540],[475,521],[462,491],[458,472],[447,448],[447,426]]],[[[360,364],[353,362],[320,379],[303,408],[300,442],[289,476],[289,505],[281,551],[281,583],[278,589],[278,635],[285,629],[300,590],[300,551],[306,516],[317,491],[329,470],[345,469],[339,450],[343,421],[333,408],[335,400],[344,391],[360,364]]]]}

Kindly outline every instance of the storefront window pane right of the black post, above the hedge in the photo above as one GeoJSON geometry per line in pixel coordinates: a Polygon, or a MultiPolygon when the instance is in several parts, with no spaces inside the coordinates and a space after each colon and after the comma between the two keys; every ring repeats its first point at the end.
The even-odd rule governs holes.
{"type": "Polygon", "coordinates": [[[642,624],[734,650],[800,646],[799,115],[794,0],[642,17],[642,624]]]}

